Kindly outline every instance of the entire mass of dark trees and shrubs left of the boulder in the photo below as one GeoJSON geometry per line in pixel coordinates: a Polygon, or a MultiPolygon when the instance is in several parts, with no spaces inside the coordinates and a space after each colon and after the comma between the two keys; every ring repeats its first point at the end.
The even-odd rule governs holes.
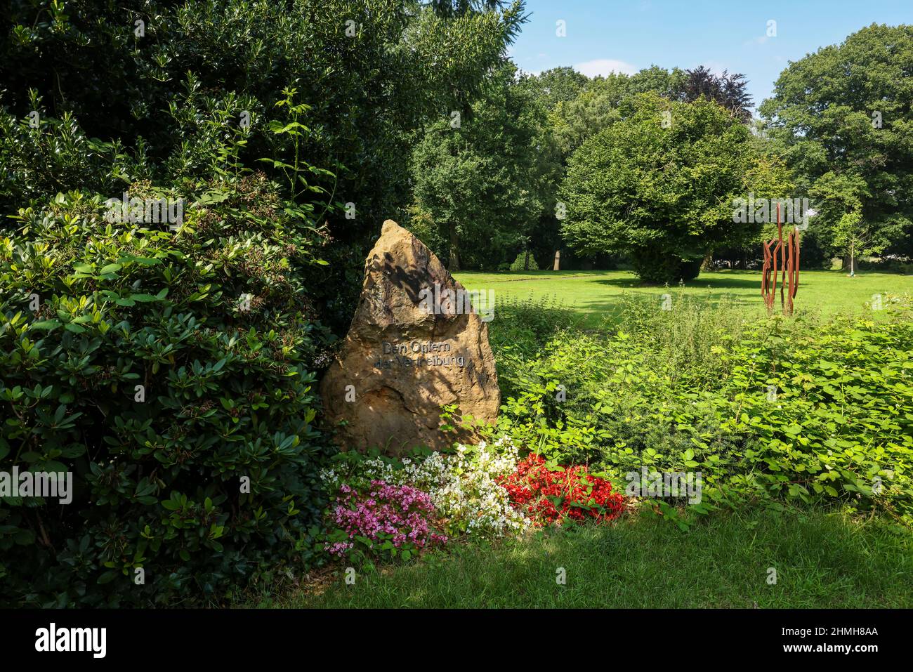
{"type": "Polygon", "coordinates": [[[321,325],[348,323],[416,133],[469,110],[521,3],[4,18],[0,471],[70,470],[76,493],[4,499],[0,599],[211,603],[311,565],[321,325]],[[111,216],[125,193],[138,210],[111,216]],[[150,218],[160,199],[183,216],[150,218]]]}

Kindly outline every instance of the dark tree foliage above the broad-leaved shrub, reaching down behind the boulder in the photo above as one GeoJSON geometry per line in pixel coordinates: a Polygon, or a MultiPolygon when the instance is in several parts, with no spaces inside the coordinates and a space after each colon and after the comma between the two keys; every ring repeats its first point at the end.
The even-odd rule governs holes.
{"type": "Polygon", "coordinates": [[[0,211],[208,177],[200,155],[243,131],[248,168],[281,181],[262,157],[307,157],[331,170],[308,176],[322,191],[307,196],[340,205],[325,213],[332,281],[315,289],[344,329],[380,224],[405,219],[416,135],[467,113],[523,20],[519,1],[15,0],[0,39],[0,106],[12,115],[0,119],[0,211]],[[273,132],[289,122],[277,105],[288,88],[309,106],[298,153],[273,132]],[[188,92],[202,110],[184,105],[188,92]]]}

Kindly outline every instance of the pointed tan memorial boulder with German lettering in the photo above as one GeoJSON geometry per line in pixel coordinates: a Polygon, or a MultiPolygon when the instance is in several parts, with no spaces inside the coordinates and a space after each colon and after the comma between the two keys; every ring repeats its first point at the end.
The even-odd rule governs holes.
{"type": "Polygon", "coordinates": [[[449,404],[458,415],[495,420],[500,391],[485,321],[494,307],[487,296],[472,298],[474,308],[418,238],[393,220],[383,223],[352,326],[320,384],[343,448],[397,455],[477,439],[474,429],[440,431],[441,406],[449,404]]]}

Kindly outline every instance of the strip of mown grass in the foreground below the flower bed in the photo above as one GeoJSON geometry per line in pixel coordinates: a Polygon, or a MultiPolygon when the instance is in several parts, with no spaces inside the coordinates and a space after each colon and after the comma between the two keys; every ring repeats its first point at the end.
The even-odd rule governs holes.
{"type": "Polygon", "coordinates": [[[687,531],[644,516],[571,533],[452,544],[417,562],[342,568],[286,607],[911,607],[913,540],[883,520],[811,510],[717,513],[687,531]],[[565,585],[556,582],[559,568],[565,585]],[[777,572],[768,583],[769,568],[777,572]]]}

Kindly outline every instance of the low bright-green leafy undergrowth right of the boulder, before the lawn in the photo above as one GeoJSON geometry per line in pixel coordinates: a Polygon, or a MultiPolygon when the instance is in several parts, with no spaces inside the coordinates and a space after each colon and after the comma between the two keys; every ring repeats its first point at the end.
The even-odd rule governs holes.
{"type": "Polygon", "coordinates": [[[498,429],[622,488],[641,467],[700,471],[711,502],[839,502],[913,524],[909,299],[827,322],[675,301],[629,304],[614,333],[499,351],[498,429]]]}

